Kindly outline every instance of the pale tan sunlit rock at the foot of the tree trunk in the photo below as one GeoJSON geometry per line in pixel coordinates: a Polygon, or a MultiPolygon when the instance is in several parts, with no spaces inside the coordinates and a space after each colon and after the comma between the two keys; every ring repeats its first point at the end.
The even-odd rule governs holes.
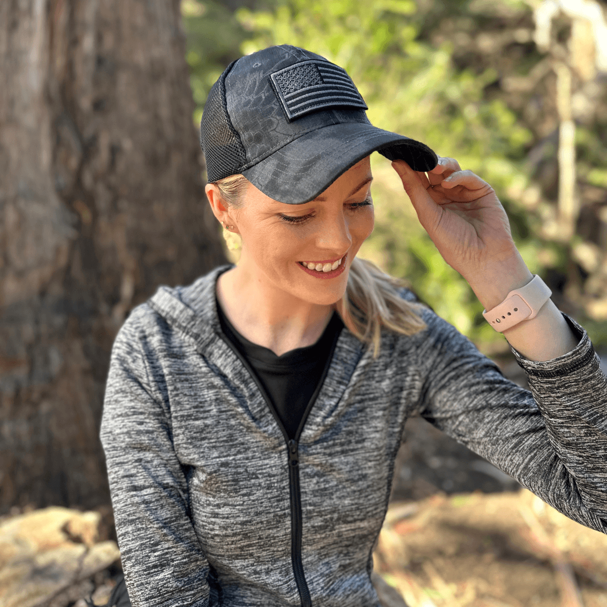
{"type": "Polygon", "coordinates": [[[97,542],[101,515],[61,507],[0,523],[0,605],[38,607],[120,558],[115,541],[97,542]]]}

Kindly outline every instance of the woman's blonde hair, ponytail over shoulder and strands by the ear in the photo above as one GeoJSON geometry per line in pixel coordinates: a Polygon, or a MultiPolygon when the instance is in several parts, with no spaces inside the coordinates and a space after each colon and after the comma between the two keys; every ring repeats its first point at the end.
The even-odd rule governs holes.
{"type": "MultiPolygon", "coordinates": [[[[249,180],[244,175],[229,175],[213,182],[226,205],[243,205],[249,180]]],[[[375,263],[354,257],[348,273],[348,285],[337,313],[344,325],[361,342],[373,347],[373,358],[379,356],[382,327],[402,335],[413,335],[426,328],[420,313],[423,304],[410,302],[399,295],[406,288],[404,280],[382,271],[375,263]]]]}

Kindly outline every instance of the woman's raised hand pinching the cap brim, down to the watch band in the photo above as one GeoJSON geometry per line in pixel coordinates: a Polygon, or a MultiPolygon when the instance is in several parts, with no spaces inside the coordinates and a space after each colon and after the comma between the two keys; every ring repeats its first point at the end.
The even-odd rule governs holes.
{"type": "Polygon", "coordinates": [[[532,279],[512,240],[506,211],[486,181],[462,171],[453,158],[439,157],[428,176],[404,160],[392,166],[439,253],[487,310],[532,279]]]}

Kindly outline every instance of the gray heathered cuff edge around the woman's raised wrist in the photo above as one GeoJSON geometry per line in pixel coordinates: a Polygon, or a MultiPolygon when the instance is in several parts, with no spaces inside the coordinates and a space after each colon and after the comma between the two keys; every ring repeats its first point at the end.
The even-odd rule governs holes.
{"type": "Polygon", "coordinates": [[[578,344],[575,348],[562,356],[553,358],[550,361],[530,361],[510,346],[510,350],[517,359],[518,365],[529,376],[542,377],[542,378],[556,378],[563,375],[569,375],[574,373],[583,367],[588,365],[600,366],[599,356],[594,351],[594,346],[588,337],[588,333],[571,316],[561,312],[568,322],[569,327],[577,336],[578,344]]]}

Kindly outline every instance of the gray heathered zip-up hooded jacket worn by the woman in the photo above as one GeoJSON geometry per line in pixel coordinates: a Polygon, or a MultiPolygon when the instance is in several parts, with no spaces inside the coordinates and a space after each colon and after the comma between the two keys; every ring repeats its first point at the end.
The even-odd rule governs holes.
{"type": "Polygon", "coordinates": [[[114,344],[101,440],[134,607],[378,605],[371,551],[413,413],[607,530],[607,381],[574,321],[564,356],[515,352],[532,392],[430,310],[421,333],[383,333],[375,360],[344,328],[289,447],[220,334],[229,267],[161,287],[114,344]]]}

